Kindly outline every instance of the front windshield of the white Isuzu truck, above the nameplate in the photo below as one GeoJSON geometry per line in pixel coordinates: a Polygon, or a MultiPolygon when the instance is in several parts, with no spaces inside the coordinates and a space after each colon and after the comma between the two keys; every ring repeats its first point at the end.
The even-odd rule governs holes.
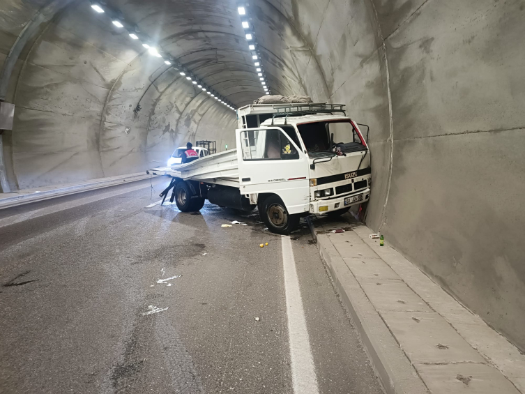
{"type": "Polygon", "coordinates": [[[297,125],[300,137],[310,156],[322,156],[334,153],[340,148],[343,153],[365,149],[361,139],[350,121],[319,121],[297,125]],[[330,147],[330,137],[333,144],[330,147]],[[331,149],[330,149],[331,148],[331,149]]]}

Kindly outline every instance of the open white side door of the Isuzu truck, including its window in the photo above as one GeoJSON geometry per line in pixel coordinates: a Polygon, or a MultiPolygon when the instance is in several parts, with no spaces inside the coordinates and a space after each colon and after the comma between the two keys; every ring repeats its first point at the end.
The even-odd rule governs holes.
{"type": "Polygon", "coordinates": [[[310,209],[308,160],[281,128],[236,130],[243,195],[274,193],[289,213],[310,209]]]}

